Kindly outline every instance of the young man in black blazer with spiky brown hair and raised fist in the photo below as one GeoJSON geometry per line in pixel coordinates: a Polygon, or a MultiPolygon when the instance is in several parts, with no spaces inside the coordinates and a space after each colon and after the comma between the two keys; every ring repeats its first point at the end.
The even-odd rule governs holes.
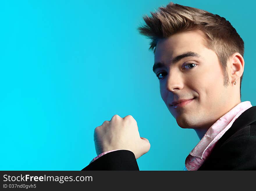
{"type": "MultiPolygon", "coordinates": [[[[230,22],[205,10],[169,3],[144,17],[153,72],[177,124],[200,142],[185,170],[256,170],[256,106],[241,102],[244,43],[230,22]]],[[[114,115],[95,128],[98,154],[83,170],[139,170],[150,143],[135,119],[114,115]]]]}

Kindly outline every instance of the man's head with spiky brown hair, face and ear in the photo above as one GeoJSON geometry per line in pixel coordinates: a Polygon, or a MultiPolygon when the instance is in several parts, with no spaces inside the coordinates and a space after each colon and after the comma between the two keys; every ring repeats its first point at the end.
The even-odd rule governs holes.
{"type": "Polygon", "coordinates": [[[209,128],[241,102],[243,40],[225,18],[205,10],[171,2],[151,14],[138,29],[151,39],[163,101],[182,128],[209,128]]]}

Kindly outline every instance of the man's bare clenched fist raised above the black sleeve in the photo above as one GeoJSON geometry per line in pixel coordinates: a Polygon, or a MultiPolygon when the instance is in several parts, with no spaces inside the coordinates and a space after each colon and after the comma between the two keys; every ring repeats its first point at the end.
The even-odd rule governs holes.
{"type": "Polygon", "coordinates": [[[136,120],[127,115],[124,118],[114,115],[94,130],[94,143],[97,155],[110,150],[129,150],[137,158],[147,153],[150,143],[140,137],[136,120]]]}

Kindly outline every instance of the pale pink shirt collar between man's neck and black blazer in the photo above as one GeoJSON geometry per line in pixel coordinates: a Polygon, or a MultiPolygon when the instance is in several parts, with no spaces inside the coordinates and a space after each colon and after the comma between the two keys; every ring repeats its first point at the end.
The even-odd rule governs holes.
{"type": "Polygon", "coordinates": [[[210,155],[216,142],[232,126],[234,121],[247,109],[252,107],[250,101],[243,101],[218,119],[205,133],[185,161],[184,170],[197,170],[210,155]]]}

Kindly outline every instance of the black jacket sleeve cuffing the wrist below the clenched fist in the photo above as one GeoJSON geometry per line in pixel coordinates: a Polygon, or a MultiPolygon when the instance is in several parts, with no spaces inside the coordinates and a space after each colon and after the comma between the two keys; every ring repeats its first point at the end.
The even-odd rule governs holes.
{"type": "Polygon", "coordinates": [[[139,170],[139,167],[133,152],[118,150],[104,154],[82,170],[139,170]]]}

